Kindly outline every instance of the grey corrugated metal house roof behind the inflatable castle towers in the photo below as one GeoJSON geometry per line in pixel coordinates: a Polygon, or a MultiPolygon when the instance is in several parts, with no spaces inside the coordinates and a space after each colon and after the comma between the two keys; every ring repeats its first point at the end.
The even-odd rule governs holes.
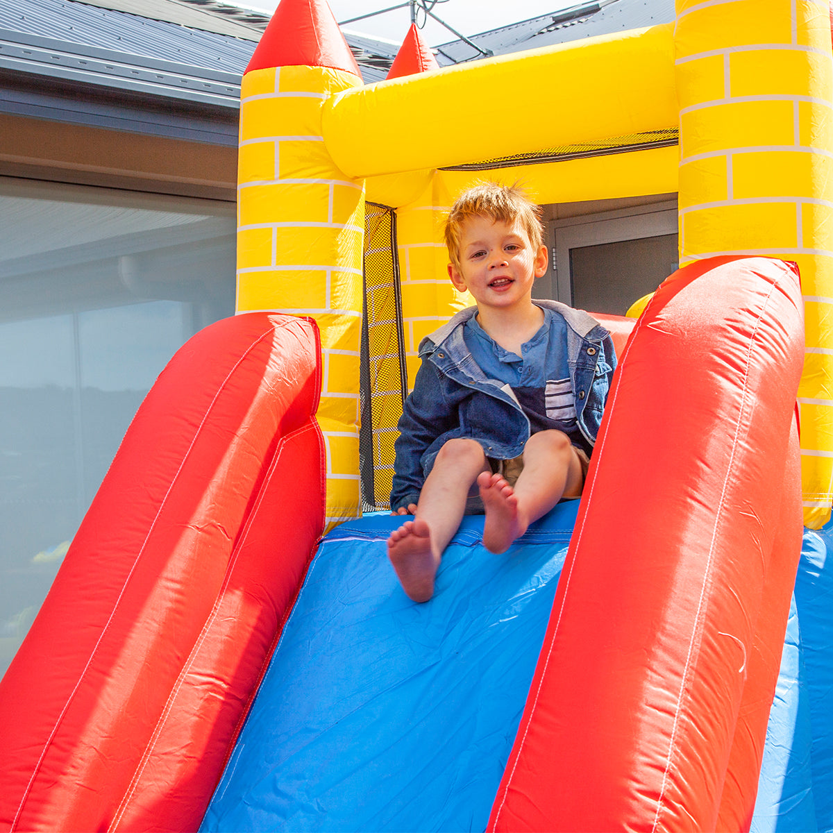
{"type": "MultiPolygon", "coordinates": [[[[438,47],[441,65],[666,22],[673,0],[593,0],[438,47]]],[[[237,144],[240,82],[271,15],[219,0],[0,0],[0,112],[237,144]]],[[[399,45],[342,30],[365,82],[399,45]]]]}

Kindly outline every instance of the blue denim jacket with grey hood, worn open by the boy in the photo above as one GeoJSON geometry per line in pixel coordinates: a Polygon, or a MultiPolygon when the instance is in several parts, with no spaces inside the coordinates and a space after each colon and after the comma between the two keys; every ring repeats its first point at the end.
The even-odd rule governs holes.
{"type": "MultiPolygon", "coordinates": [[[[593,446],[616,368],[611,335],[587,312],[556,301],[535,303],[566,322],[576,425],[593,446]]],[[[458,312],[420,344],[422,364],[394,446],[392,510],[418,501],[427,472],[446,441],[469,437],[483,446],[486,456],[511,460],[521,455],[529,439],[529,419],[511,389],[487,378],[466,347],[463,327],[476,312],[477,307],[458,312]]]]}

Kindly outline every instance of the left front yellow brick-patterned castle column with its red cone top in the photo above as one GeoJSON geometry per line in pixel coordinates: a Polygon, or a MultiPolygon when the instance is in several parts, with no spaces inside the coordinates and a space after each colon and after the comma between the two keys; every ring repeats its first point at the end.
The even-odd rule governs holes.
{"type": "Polygon", "coordinates": [[[361,506],[364,186],[329,157],[321,112],[361,83],[324,0],[282,0],[242,82],[237,312],[310,316],[321,329],[328,528],[361,506]]]}

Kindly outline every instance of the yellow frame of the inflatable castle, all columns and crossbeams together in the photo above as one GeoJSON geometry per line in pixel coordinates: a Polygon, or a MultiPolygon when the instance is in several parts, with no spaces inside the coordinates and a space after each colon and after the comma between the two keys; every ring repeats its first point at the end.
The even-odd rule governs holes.
{"type": "Polygon", "coordinates": [[[678,0],[676,24],[367,87],[322,67],[248,72],[237,309],[303,313],[322,325],[331,525],[360,511],[364,200],[396,209],[412,382],[421,337],[467,303],[447,278],[442,218],[484,178],[521,180],[541,203],[679,192],[682,263],[717,252],[799,262],[805,519],[823,525],[833,496],[831,83],[828,5],[809,0],[678,0]],[[507,103],[474,107],[472,117],[483,90],[507,103]],[[489,163],[677,129],[679,147],[489,163]],[[471,162],[485,164],[441,170],[471,162]]]}

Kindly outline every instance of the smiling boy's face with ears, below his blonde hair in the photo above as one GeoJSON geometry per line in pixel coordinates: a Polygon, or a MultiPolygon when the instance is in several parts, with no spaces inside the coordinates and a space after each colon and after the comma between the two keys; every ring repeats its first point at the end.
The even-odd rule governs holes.
{"type": "Polygon", "coordinates": [[[519,222],[471,217],[460,227],[460,267],[448,264],[451,283],[468,290],[477,307],[511,309],[531,301],[532,283],[546,272],[546,246],[537,251],[519,222]]]}

